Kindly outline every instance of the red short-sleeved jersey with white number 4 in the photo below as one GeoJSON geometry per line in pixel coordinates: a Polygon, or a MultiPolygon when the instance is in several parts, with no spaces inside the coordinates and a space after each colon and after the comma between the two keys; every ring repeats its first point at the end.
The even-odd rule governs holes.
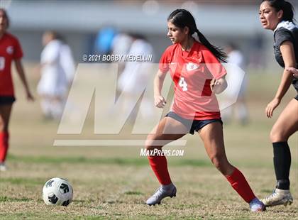
{"type": "Polygon", "coordinates": [[[165,50],[160,58],[160,71],[167,72],[175,83],[172,111],[184,119],[206,120],[221,117],[216,96],[210,89],[211,79],[226,75],[219,60],[202,43],[194,41],[189,52],[180,44],[165,50]]]}

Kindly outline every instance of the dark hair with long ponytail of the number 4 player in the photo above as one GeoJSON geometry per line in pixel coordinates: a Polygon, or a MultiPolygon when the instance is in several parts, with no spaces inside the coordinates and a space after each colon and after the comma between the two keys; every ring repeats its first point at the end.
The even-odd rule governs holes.
{"type": "Polygon", "coordinates": [[[189,11],[185,9],[176,9],[175,11],[170,13],[170,16],[167,18],[167,21],[170,21],[179,28],[188,27],[190,35],[197,33],[199,41],[206,48],[208,48],[217,59],[221,60],[222,62],[226,62],[226,53],[224,53],[221,50],[221,48],[211,45],[211,43],[209,43],[209,41],[204,37],[204,35],[201,32],[199,32],[196,25],[196,21],[194,21],[194,17],[189,11]]]}

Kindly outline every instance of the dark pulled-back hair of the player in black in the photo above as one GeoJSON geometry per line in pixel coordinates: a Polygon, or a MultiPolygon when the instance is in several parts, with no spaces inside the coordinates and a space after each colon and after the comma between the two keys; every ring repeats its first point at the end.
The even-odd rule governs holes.
{"type": "Polygon", "coordinates": [[[292,4],[285,0],[263,0],[268,1],[270,6],[275,9],[275,11],[282,10],[282,21],[292,21],[294,22],[294,8],[292,4]]]}

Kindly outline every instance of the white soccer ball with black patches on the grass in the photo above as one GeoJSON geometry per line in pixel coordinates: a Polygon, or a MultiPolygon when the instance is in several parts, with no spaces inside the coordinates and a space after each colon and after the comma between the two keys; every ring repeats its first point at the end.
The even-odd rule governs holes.
{"type": "Polygon", "coordinates": [[[43,186],[43,201],[45,204],[67,207],[72,202],[72,186],[65,179],[55,177],[43,186]]]}

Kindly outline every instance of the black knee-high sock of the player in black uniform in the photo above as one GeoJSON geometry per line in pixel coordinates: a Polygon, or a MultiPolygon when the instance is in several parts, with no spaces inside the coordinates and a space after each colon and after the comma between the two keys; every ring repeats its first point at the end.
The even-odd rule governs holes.
{"type": "Polygon", "coordinates": [[[273,163],[277,180],[277,189],[289,189],[289,168],[291,152],[287,142],[275,142],[273,145],[273,163]]]}

